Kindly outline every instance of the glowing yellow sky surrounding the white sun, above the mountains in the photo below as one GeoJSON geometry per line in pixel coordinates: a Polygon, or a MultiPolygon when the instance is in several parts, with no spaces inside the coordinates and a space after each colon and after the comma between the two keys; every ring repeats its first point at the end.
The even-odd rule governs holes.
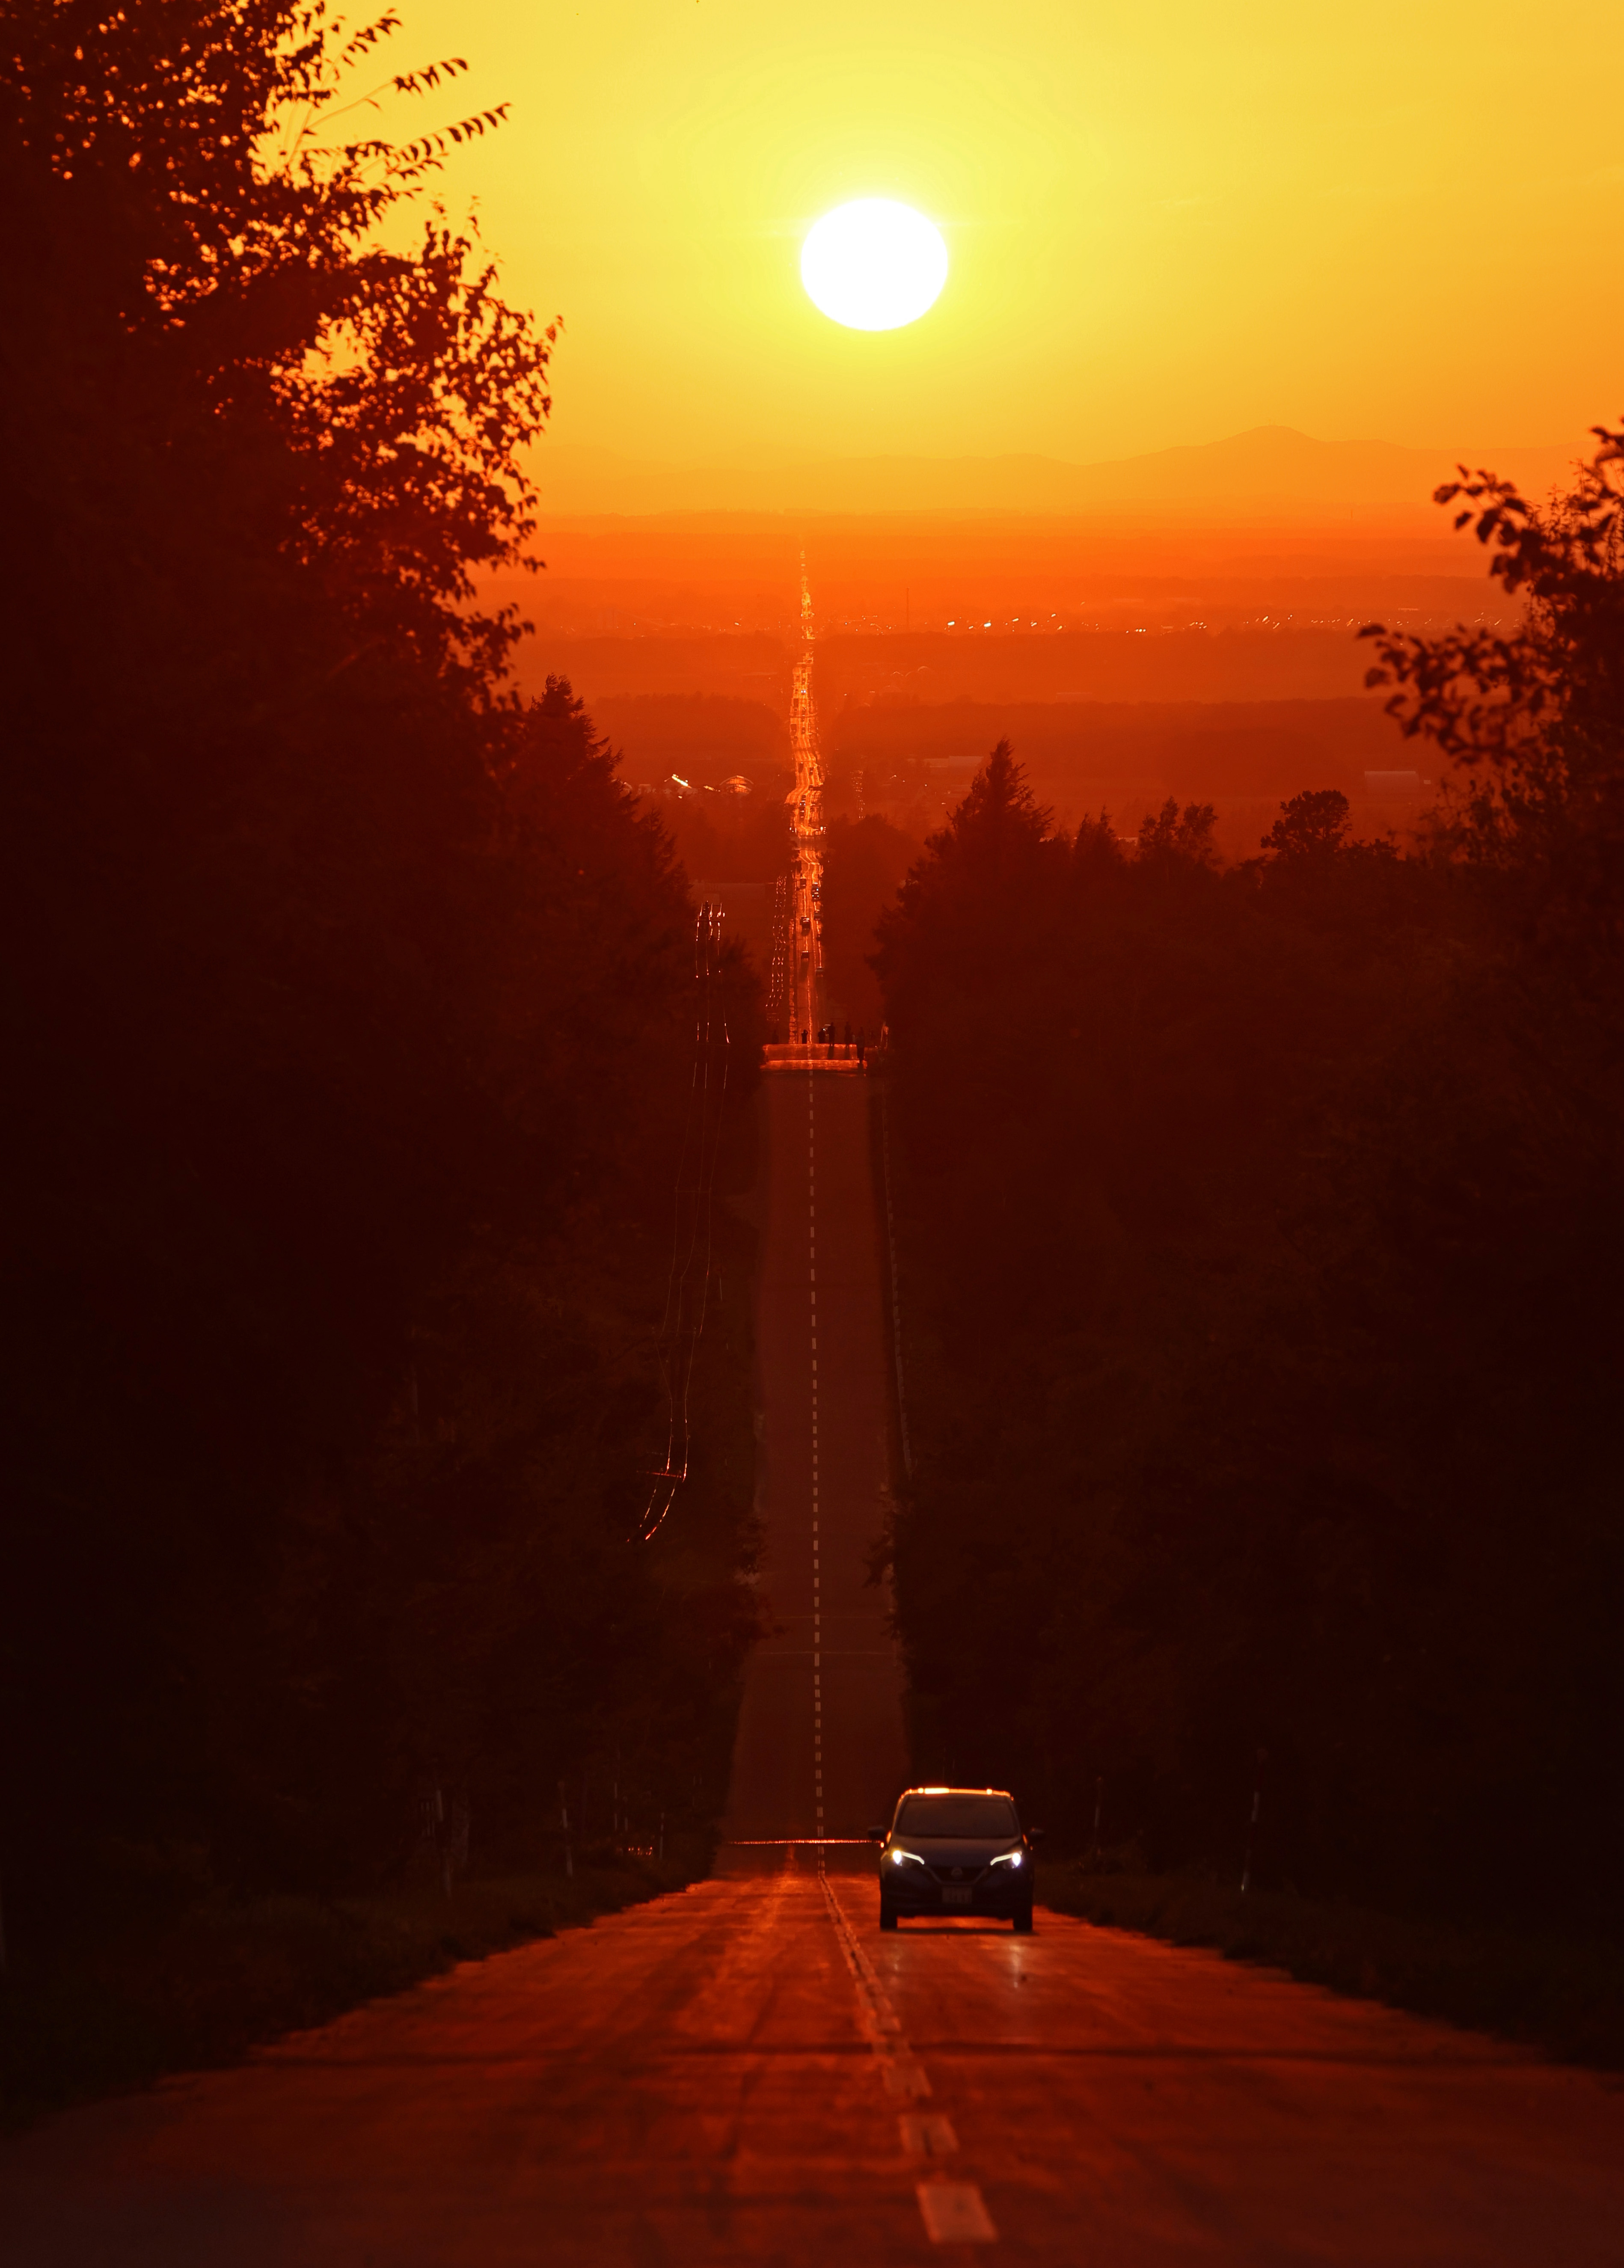
{"type": "MultiPolygon", "coordinates": [[[[563,313],[558,442],[726,463],[1102,458],[1254,424],[1567,442],[1624,411],[1624,16],[1375,0],[404,0],[510,125],[445,177],[563,313]],[[805,227],[953,270],[855,333],[805,227]]],[[[456,116],[395,102],[388,129],[456,116]]]]}

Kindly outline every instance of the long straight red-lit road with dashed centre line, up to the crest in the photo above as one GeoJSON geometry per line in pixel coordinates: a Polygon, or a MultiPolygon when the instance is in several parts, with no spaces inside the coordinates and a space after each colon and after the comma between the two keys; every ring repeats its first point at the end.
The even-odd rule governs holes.
{"type": "Polygon", "coordinates": [[[1613,2080],[1041,1910],[1034,1937],[882,1937],[866,1848],[753,1839],[814,1835],[819,1805],[862,1833],[903,1776],[862,1569],[887,1424],[864,1109],[860,1077],[767,1082],[780,1631],[724,1871],[14,2136],[7,2268],[1619,2259],[1613,2080]]]}

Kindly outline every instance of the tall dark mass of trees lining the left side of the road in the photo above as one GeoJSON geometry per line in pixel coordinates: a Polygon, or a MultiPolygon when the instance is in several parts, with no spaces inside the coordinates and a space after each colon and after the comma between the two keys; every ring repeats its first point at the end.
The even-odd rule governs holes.
{"type": "Polygon", "coordinates": [[[699,982],[569,687],[504,694],[470,576],[526,549],[549,333],[438,209],[381,243],[438,150],[322,132],[374,43],[281,0],[2,34],[23,1964],[109,1896],[379,1882],[426,1787],[524,1864],[560,1778],[646,1837],[726,1774],[748,1256],[694,1202],[685,1343],[662,1309],[758,989],[699,982]]]}

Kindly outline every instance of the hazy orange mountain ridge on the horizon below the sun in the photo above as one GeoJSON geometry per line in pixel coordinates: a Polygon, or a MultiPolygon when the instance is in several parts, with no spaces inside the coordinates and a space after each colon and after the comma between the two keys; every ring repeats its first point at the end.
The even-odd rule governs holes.
{"type": "Polygon", "coordinates": [[[542,513],[1157,513],[1422,506],[1456,463],[1488,465],[1542,494],[1583,442],[1570,447],[1406,449],[1384,440],[1313,440],[1293,426],[1254,426],[1227,440],[1150,456],[1073,465],[1052,456],[805,458],[758,467],[658,465],[610,449],[538,451],[542,513]]]}

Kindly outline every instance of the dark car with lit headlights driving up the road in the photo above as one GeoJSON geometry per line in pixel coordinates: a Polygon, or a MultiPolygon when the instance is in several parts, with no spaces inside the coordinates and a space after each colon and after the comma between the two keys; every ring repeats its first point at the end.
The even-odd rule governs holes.
{"type": "Polygon", "coordinates": [[[1032,1846],[1005,1787],[910,1787],[880,1844],[880,1928],[910,1914],[991,1914],[1032,1930],[1032,1846]]]}

